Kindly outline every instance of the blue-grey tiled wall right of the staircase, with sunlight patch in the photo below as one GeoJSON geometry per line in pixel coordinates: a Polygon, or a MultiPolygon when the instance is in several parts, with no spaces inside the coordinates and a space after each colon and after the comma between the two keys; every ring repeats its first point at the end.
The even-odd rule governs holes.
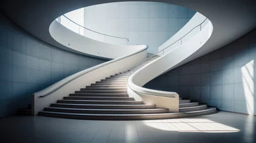
{"type": "Polygon", "coordinates": [[[147,88],[175,91],[220,110],[256,111],[256,29],[235,42],[153,79],[147,88]]]}

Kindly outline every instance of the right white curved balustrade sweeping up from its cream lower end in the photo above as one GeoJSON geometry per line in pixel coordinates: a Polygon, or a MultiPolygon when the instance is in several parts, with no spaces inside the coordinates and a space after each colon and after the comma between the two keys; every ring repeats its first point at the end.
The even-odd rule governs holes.
{"type": "MultiPolygon", "coordinates": [[[[157,55],[162,55],[162,57],[128,76],[129,96],[134,97],[135,100],[143,100],[146,104],[155,104],[156,107],[169,108],[169,112],[178,112],[179,95],[176,92],[157,91],[142,88],[142,86],[165,71],[174,68],[175,65],[192,55],[208,41],[212,33],[211,21],[199,13],[196,13],[192,20],[183,28],[187,29],[184,35],[181,36],[179,32],[186,30],[181,29],[181,31],[174,35],[174,38],[171,38],[176,39],[174,42],[156,53],[157,55]],[[193,27],[195,20],[199,24],[193,27]],[[189,27],[191,28],[189,29],[189,27]]],[[[147,60],[149,59],[150,57],[147,58],[147,60]]]]}

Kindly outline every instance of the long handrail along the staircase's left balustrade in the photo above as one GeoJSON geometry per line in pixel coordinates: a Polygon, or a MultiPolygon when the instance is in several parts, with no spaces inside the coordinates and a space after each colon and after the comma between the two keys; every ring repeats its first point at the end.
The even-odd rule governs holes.
{"type": "MultiPolygon", "coordinates": [[[[93,70],[99,69],[100,67],[106,66],[106,65],[111,64],[111,63],[114,63],[114,62],[116,62],[116,61],[122,60],[122,59],[124,59],[124,58],[131,57],[132,55],[135,55],[135,54],[138,54],[139,52],[145,51],[147,48],[149,48],[149,46],[146,45],[145,48],[140,49],[140,50],[137,51],[137,52],[134,52],[134,53],[125,55],[125,56],[123,56],[123,57],[116,58],[116,59],[114,59],[114,60],[107,61],[107,62],[102,63],[102,64],[98,64],[97,66],[94,66],[94,67],[91,67],[91,68],[89,68],[89,69],[86,69],[87,71],[85,71],[84,73],[83,73],[82,71],[80,71],[81,74],[79,74],[79,75],[73,77],[72,79],[69,79],[69,80],[67,80],[66,82],[62,83],[62,84],[61,84],[60,86],[58,86],[57,88],[53,89],[53,91],[50,91],[50,92],[48,92],[48,93],[45,94],[45,95],[39,96],[39,98],[47,97],[48,95],[50,95],[50,94],[52,94],[53,92],[57,91],[58,89],[62,88],[64,85],[67,85],[67,83],[71,82],[72,80],[77,79],[78,77],[81,77],[81,76],[84,75],[84,74],[87,74],[87,73],[89,73],[89,72],[91,72],[91,71],[93,71],[93,70]]],[[[80,72],[79,72],[79,73],[80,73],[80,72]]],[[[69,77],[70,77],[70,76],[69,76],[69,77]]],[[[67,77],[66,77],[66,78],[67,78],[67,77]]],[[[65,79],[66,79],[66,78],[65,78],[65,79]]],[[[63,79],[63,80],[64,80],[64,79],[63,79]]],[[[40,94],[40,93],[42,93],[42,92],[44,92],[44,91],[47,91],[47,89],[50,89],[50,88],[52,88],[52,87],[55,86],[55,85],[58,85],[58,83],[60,83],[60,82],[63,81],[63,80],[60,80],[59,82],[56,82],[56,83],[54,83],[54,84],[51,85],[51,86],[48,86],[48,88],[45,88],[45,89],[43,89],[42,91],[35,92],[33,95],[35,95],[35,94],[40,94]]]]}

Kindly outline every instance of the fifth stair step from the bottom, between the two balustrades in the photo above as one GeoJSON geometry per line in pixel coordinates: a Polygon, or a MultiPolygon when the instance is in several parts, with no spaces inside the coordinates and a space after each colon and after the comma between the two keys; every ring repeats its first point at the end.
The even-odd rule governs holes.
{"type": "Polygon", "coordinates": [[[64,97],[64,100],[134,101],[132,97],[64,97]]]}

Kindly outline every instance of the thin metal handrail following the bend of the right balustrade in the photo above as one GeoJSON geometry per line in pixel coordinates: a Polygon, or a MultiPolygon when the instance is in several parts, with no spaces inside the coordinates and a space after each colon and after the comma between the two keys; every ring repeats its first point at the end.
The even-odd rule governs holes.
{"type": "MultiPolygon", "coordinates": [[[[174,43],[176,43],[176,42],[178,42],[178,41],[180,41],[180,40],[181,40],[181,45],[182,45],[182,39],[183,39],[185,36],[187,36],[190,32],[192,32],[192,30],[194,30],[196,27],[201,26],[201,27],[200,27],[200,30],[202,30],[202,24],[203,24],[207,19],[208,19],[208,18],[205,18],[205,20],[203,20],[202,23],[200,23],[200,24],[198,24],[197,26],[193,27],[193,29],[191,29],[189,32],[187,32],[186,35],[182,36],[182,37],[179,38],[177,41],[173,42],[171,45],[166,46],[164,49],[161,49],[161,51],[156,52],[156,54],[158,54],[159,52],[164,51],[166,48],[169,48],[169,46],[174,45],[174,43]]],[[[175,48],[175,49],[176,49],[176,48],[175,48]]],[[[174,50],[174,49],[173,49],[173,50],[174,50]]],[[[132,69],[129,71],[129,74],[128,74],[128,76],[127,76],[127,85],[128,85],[128,87],[129,87],[130,89],[131,89],[131,86],[129,86],[128,79],[129,79],[129,76],[130,76],[130,74],[131,74],[131,71],[134,70],[135,67],[139,66],[140,64],[144,63],[145,61],[147,61],[147,60],[149,60],[150,58],[152,58],[153,56],[155,56],[156,54],[150,55],[150,57],[146,58],[146,60],[142,61],[141,63],[137,64],[136,66],[132,67],[132,69]]],[[[133,91],[133,89],[132,89],[132,91],[133,91]]],[[[136,91],[136,92],[137,92],[137,91],[136,91]]],[[[140,93],[142,93],[142,92],[140,92],[140,93]]],[[[143,94],[145,94],[145,93],[143,93],[143,94]]],[[[146,94],[148,94],[148,93],[146,93],[146,94]]],[[[151,94],[151,95],[157,95],[157,94],[151,94]]],[[[162,95],[158,95],[158,96],[162,96],[162,95]]]]}

